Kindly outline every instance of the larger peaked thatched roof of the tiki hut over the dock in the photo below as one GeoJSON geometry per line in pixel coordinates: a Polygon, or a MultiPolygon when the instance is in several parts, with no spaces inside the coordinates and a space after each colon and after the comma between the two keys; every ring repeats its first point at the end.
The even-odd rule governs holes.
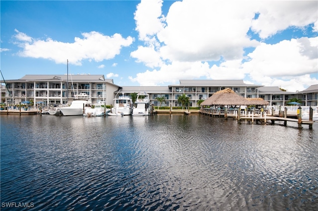
{"type": "Polygon", "coordinates": [[[250,105],[250,101],[236,94],[232,89],[226,88],[214,93],[211,97],[203,101],[201,105],[250,105]]]}

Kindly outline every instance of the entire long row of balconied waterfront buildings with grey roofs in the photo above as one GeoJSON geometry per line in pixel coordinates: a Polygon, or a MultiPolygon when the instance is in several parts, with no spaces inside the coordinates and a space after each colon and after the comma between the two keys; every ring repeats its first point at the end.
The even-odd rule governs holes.
{"type": "Polygon", "coordinates": [[[84,92],[91,96],[92,103],[104,101],[113,104],[116,95],[130,95],[140,91],[150,94],[155,106],[181,106],[178,97],[185,94],[190,107],[206,100],[215,92],[231,88],[246,98],[263,98],[270,105],[287,105],[290,99],[302,100],[304,106],[318,106],[318,84],[299,92],[282,91],[279,87],[245,84],[243,80],[179,80],[169,86],[119,86],[104,75],[25,75],[20,79],[1,81],[1,103],[18,104],[23,101],[44,104],[70,104],[74,95],[84,92]],[[157,97],[164,97],[159,101],[157,97]]]}

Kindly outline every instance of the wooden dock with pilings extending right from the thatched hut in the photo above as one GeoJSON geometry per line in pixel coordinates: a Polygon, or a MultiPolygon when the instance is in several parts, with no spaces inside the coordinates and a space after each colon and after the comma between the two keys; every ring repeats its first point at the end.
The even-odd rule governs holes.
{"type": "MultiPolygon", "coordinates": [[[[286,111],[286,110],[285,110],[286,111]]],[[[267,121],[271,121],[271,124],[274,125],[275,121],[284,121],[284,126],[287,126],[287,122],[297,122],[298,127],[302,128],[302,125],[309,125],[309,129],[313,129],[313,124],[315,121],[313,121],[313,112],[310,113],[309,120],[303,120],[301,111],[298,113],[297,119],[295,118],[287,118],[287,112],[282,113],[284,116],[271,116],[268,115],[266,112],[261,111],[259,114],[254,114],[253,112],[246,112],[246,110],[240,110],[240,109],[203,109],[200,110],[200,113],[203,115],[208,115],[211,117],[224,117],[225,119],[234,118],[238,120],[239,122],[241,120],[248,121],[249,123],[256,123],[256,124],[266,124],[267,121]]]]}

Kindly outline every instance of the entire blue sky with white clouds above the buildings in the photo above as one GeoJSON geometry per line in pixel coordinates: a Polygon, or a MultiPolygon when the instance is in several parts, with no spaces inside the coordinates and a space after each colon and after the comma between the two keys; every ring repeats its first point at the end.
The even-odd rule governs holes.
{"type": "Polygon", "coordinates": [[[318,84],[317,11],[317,0],[1,0],[0,69],[5,80],[69,70],[119,86],[302,91],[318,84]]]}

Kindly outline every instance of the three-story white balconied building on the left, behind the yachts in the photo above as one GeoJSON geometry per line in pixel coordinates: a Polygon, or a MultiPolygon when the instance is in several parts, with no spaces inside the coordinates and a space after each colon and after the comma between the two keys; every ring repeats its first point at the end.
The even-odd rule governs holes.
{"type": "MultiPolygon", "coordinates": [[[[4,81],[1,81],[3,83],[4,81]]],[[[23,101],[44,104],[70,104],[81,92],[91,96],[92,103],[113,103],[118,86],[104,75],[25,75],[18,80],[6,80],[1,86],[1,103],[18,104],[23,101]]]]}

